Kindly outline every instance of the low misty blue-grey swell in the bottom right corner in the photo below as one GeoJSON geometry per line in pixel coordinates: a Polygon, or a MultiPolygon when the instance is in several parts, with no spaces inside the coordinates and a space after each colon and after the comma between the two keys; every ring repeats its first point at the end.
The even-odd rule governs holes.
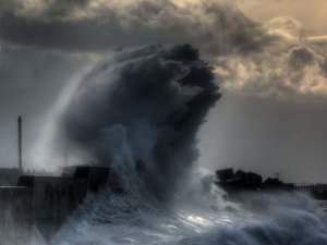
{"type": "MultiPolygon", "coordinates": [[[[245,205],[251,219],[240,226],[216,226],[201,235],[185,237],[187,245],[326,245],[327,216],[303,193],[250,194],[245,205]],[[259,201],[259,203],[257,203],[259,201]],[[257,203],[249,206],[250,203],[257,203]],[[262,204],[261,204],[262,203],[262,204]],[[263,205],[264,204],[264,205],[263,205]],[[253,207],[259,207],[257,210],[253,207]]],[[[243,201],[244,201],[243,198],[243,201]]],[[[234,223],[234,222],[233,222],[234,223]]]]}

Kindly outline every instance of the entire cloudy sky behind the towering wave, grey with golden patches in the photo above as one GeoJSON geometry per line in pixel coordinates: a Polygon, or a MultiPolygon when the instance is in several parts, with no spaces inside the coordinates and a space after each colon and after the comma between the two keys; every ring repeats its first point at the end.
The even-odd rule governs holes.
{"type": "MultiPolygon", "coordinates": [[[[325,0],[0,0],[0,166],[55,169],[56,115],[114,50],[189,42],[222,98],[199,133],[201,166],[327,181],[325,0]]],[[[59,150],[60,152],[60,150],[59,150]]]]}

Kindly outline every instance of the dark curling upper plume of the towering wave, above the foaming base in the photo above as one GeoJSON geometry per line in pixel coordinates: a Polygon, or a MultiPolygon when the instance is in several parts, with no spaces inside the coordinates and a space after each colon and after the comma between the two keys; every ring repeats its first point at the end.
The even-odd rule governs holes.
{"type": "Polygon", "coordinates": [[[97,163],[143,169],[167,197],[193,170],[197,130],[219,88],[189,45],[121,53],[86,75],[63,113],[64,135],[97,163]]]}

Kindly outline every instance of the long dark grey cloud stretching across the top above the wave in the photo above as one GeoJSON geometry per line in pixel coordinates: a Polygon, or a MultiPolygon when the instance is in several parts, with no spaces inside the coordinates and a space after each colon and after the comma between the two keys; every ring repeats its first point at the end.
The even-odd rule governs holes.
{"type": "Polygon", "coordinates": [[[231,54],[259,51],[276,40],[226,1],[187,7],[164,0],[129,4],[38,1],[29,8],[16,2],[0,20],[0,37],[22,46],[99,51],[152,42],[191,42],[207,54],[231,54]]]}

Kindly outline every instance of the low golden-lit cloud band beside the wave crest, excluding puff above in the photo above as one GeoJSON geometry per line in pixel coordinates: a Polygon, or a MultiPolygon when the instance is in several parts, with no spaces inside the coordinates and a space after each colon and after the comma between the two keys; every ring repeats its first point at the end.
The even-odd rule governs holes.
{"type": "Polygon", "coordinates": [[[251,96],[282,100],[325,100],[326,58],[306,45],[252,57],[226,57],[216,73],[223,87],[251,96]]]}

